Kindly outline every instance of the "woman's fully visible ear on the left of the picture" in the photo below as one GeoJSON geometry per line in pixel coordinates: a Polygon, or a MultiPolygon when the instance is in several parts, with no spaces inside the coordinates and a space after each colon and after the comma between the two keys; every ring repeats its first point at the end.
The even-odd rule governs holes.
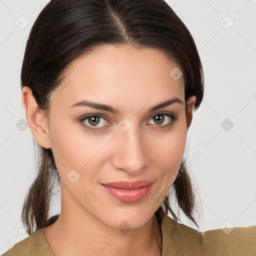
{"type": "Polygon", "coordinates": [[[43,110],[39,109],[28,86],[22,87],[22,105],[26,120],[35,140],[44,148],[50,148],[48,121],[43,110]]]}

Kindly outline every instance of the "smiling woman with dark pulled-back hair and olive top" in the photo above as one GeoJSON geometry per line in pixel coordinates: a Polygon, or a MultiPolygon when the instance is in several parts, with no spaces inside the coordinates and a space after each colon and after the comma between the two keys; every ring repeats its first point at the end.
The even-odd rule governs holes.
{"type": "Polygon", "coordinates": [[[203,71],[166,2],[51,0],[29,34],[21,89],[40,163],[22,208],[29,236],[3,255],[256,251],[255,227],[202,233],[169,205],[173,190],[197,225],[182,157],[203,71]],[[61,212],[48,218],[59,184],[61,212]]]}

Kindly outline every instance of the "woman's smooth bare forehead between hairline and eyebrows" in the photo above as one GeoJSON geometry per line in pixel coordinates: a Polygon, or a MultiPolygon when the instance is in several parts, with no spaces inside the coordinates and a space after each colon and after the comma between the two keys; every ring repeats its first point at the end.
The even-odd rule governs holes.
{"type": "MultiPolygon", "coordinates": [[[[177,96],[184,98],[183,75],[171,74],[180,66],[155,48],[102,45],[73,60],[62,79],[62,88],[50,104],[69,107],[89,99],[111,105],[150,105],[177,96]],[[137,103],[138,102],[138,103],[137,103]]],[[[118,107],[119,108],[119,107],[118,107]]]]}

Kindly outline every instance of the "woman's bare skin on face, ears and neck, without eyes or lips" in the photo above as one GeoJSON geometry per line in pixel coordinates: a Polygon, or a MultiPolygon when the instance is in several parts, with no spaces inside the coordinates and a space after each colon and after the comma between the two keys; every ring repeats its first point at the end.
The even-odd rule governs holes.
{"type": "MultiPolygon", "coordinates": [[[[183,76],[174,80],[169,75],[179,66],[158,49],[137,49],[129,44],[97,49],[99,52],[50,99],[48,116],[38,109],[30,88],[22,88],[29,128],[41,146],[52,149],[61,177],[60,216],[42,230],[56,256],[160,255],[162,237],[154,212],[168,189],[153,202],[149,196],[177,174],[196,98],[187,100],[186,120],[183,76]],[[182,104],[175,102],[149,112],[173,97],[182,104]],[[119,113],[70,107],[84,99],[111,105],[119,113]],[[152,118],[162,112],[177,118],[172,121],[159,115],[164,118],[162,123],[152,118]],[[99,130],[84,127],[95,127],[91,119],[77,121],[99,113],[103,114],[95,123],[102,127],[99,130]],[[126,131],[118,126],[123,118],[131,124],[126,131]],[[172,125],[159,127],[169,122],[172,125]],[[74,183],[67,177],[72,169],[80,175],[74,183]],[[154,183],[140,201],[127,203],[113,198],[100,185],[119,180],[154,183]],[[131,228],[126,233],[118,228],[123,221],[131,228]]],[[[66,74],[81,60],[84,56],[73,61],[66,74]]]]}

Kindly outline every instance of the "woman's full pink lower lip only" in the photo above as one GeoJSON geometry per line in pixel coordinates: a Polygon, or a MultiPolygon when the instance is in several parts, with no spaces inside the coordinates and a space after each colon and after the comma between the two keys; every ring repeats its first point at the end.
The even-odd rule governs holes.
{"type": "Polygon", "coordinates": [[[135,189],[123,189],[123,188],[117,188],[112,186],[106,186],[101,184],[106,191],[111,194],[113,197],[118,199],[122,202],[137,202],[141,200],[143,197],[145,197],[153,184],[150,184],[148,186],[141,186],[135,189]]]}

